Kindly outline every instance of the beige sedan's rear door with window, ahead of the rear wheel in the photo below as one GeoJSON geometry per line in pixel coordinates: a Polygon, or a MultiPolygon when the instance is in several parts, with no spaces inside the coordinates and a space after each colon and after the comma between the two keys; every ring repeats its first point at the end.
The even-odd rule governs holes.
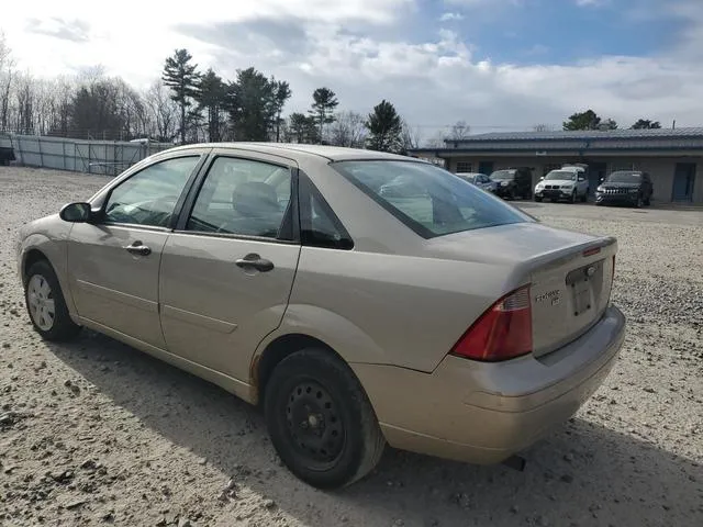
{"type": "Polygon", "coordinates": [[[298,267],[298,166],[250,152],[213,156],[164,247],[161,327],[170,352],[248,381],[298,267]]]}

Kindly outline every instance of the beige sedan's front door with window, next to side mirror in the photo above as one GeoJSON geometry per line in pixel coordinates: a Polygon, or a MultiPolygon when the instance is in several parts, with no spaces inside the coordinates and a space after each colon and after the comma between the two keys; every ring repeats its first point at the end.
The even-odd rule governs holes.
{"type": "Polygon", "coordinates": [[[164,244],[201,153],[157,160],[104,198],[68,242],[69,287],[82,323],[164,348],[158,273],[164,244]]]}

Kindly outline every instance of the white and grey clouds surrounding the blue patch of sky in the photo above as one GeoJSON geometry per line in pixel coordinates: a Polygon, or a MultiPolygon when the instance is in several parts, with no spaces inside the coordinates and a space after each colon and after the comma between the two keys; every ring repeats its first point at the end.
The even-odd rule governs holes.
{"type": "MultiPolygon", "coordinates": [[[[487,0],[448,1],[477,5],[487,0]]],[[[558,124],[587,108],[621,125],[638,117],[703,123],[699,0],[668,4],[689,20],[674,49],[560,66],[499,64],[446,30],[422,40],[410,31],[405,38],[398,36],[402,22],[417,14],[410,0],[254,0],[225,11],[214,8],[216,0],[201,0],[197,10],[178,1],[169,9],[155,3],[125,1],[103,12],[77,0],[60,5],[41,0],[32,9],[9,10],[0,23],[21,66],[35,75],[101,63],[109,72],[145,86],[159,76],[166,56],[187,47],[201,67],[213,66],[225,78],[255,66],[289,80],[289,111],[306,110],[314,88],[328,86],[344,109],[368,112],[388,99],[411,123],[464,119],[477,132],[488,125],[558,124]],[[27,23],[34,24],[31,31],[27,23]],[[60,38],[51,36],[57,32],[60,38]]]]}

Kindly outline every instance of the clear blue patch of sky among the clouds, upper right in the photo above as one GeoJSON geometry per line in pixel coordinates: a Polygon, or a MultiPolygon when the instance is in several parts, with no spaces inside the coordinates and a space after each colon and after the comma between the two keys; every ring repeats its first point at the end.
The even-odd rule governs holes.
{"type": "Polygon", "coordinates": [[[647,56],[670,47],[684,21],[661,10],[663,1],[498,0],[493,9],[479,10],[469,2],[467,9],[461,2],[424,0],[420,16],[433,20],[434,29],[457,31],[477,55],[493,61],[563,65],[603,55],[647,56]]]}

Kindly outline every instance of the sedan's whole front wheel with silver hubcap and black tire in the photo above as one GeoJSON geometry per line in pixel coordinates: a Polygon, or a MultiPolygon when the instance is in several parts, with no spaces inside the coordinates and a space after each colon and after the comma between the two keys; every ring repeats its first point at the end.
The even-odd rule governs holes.
{"type": "Polygon", "coordinates": [[[58,279],[48,261],[37,261],[30,267],[24,300],[34,329],[46,340],[68,340],[80,330],[80,326],[70,319],[58,279]]]}

